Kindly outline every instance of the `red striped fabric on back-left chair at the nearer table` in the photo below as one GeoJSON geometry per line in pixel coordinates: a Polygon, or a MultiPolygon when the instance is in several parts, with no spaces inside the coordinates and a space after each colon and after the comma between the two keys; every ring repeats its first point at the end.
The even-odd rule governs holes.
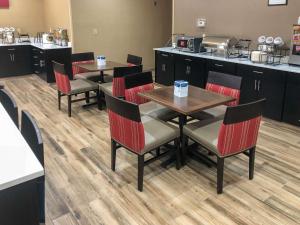
{"type": "Polygon", "coordinates": [[[132,102],[132,103],[135,103],[138,105],[144,104],[146,102],[149,102],[149,100],[139,96],[139,93],[142,91],[151,91],[153,89],[154,89],[153,83],[142,85],[142,86],[131,88],[131,89],[127,89],[127,90],[125,90],[125,99],[126,99],[126,101],[129,101],[129,102],[132,102]]]}

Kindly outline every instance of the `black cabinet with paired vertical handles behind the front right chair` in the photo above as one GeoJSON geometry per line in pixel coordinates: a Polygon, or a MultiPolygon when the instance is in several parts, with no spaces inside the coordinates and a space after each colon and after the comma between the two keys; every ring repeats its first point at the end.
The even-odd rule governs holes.
{"type": "Polygon", "coordinates": [[[264,116],[281,121],[286,82],[285,72],[237,65],[237,75],[243,77],[241,103],[266,98],[264,116]]]}

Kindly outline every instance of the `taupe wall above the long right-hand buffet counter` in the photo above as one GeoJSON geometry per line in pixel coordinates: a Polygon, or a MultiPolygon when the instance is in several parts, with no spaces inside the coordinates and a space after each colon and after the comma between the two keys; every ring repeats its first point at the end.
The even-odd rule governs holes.
{"type": "Polygon", "coordinates": [[[282,36],[290,41],[292,25],[300,16],[300,1],[288,6],[267,6],[267,0],[174,0],[174,33],[233,35],[257,40],[260,35],[282,36]],[[197,18],[207,27],[196,27],[197,18]]]}

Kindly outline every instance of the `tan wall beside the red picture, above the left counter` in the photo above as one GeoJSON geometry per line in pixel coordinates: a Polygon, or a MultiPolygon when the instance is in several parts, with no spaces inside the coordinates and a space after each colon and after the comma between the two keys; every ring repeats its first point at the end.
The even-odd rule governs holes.
{"type": "Polygon", "coordinates": [[[0,9],[0,27],[13,26],[35,35],[44,30],[43,6],[42,0],[10,0],[9,9],[0,9]]]}

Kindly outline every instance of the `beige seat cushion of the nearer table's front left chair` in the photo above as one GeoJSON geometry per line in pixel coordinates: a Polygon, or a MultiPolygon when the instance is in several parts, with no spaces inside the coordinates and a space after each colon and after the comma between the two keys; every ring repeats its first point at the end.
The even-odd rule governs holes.
{"type": "Polygon", "coordinates": [[[145,154],[161,145],[167,144],[180,135],[178,128],[163,121],[156,120],[149,116],[142,116],[141,120],[145,130],[145,148],[141,154],[145,154]]]}

